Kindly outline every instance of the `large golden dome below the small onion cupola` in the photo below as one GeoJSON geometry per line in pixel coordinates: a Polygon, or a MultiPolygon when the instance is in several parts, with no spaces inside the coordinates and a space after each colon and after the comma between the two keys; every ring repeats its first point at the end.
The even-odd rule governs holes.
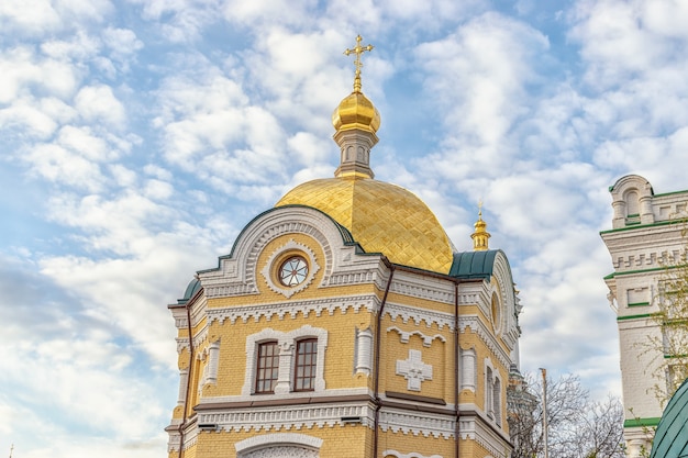
{"type": "Polygon", "coordinates": [[[391,262],[448,273],[452,244],[435,215],[406,189],[359,176],[300,185],[275,206],[315,208],[345,226],[366,253],[391,262]]]}

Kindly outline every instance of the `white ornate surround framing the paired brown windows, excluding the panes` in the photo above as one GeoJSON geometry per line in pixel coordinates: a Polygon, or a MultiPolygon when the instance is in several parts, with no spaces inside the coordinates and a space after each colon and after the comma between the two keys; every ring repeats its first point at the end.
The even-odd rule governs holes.
{"type": "MultiPolygon", "coordinates": [[[[313,391],[325,390],[324,365],[325,349],[328,348],[328,331],[310,325],[301,326],[297,329],[284,333],[267,327],[259,333],[246,337],[246,373],[244,375],[244,386],[242,395],[255,393],[255,379],[257,368],[258,344],[268,340],[276,340],[279,348],[279,369],[275,394],[289,393],[293,390],[293,369],[296,367],[296,343],[303,338],[318,339],[318,356],[315,366],[315,386],[313,391]]],[[[256,394],[271,395],[271,394],[256,394]]]]}

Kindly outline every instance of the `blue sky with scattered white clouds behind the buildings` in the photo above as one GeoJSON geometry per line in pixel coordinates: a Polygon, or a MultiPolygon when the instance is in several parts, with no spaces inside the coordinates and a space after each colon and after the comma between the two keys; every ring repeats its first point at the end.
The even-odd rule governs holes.
{"type": "Polygon", "coordinates": [[[628,174],[688,189],[681,0],[0,1],[0,454],[165,456],[175,303],[381,114],[376,178],[458,250],[482,201],[520,290],[521,369],[620,395],[599,232],[628,174]]]}

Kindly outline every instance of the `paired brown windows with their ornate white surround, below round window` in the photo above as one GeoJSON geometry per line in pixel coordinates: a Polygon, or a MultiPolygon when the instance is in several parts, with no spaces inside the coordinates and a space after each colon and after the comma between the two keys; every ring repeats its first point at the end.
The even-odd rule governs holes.
{"type": "Polygon", "coordinates": [[[266,328],[246,338],[243,395],[323,391],[328,332],[306,325],[290,332],[266,328]]]}

